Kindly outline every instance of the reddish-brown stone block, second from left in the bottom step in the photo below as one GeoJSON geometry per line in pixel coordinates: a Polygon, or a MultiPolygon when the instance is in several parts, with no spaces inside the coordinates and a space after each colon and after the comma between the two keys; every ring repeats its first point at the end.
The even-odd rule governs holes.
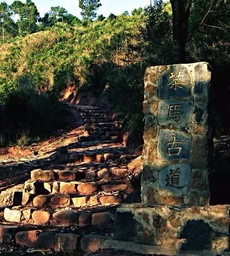
{"type": "Polygon", "coordinates": [[[41,230],[18,232],[15,236],[16,243],[21,246],[36,248],[37,240],[41,233],[41,230]]]}

